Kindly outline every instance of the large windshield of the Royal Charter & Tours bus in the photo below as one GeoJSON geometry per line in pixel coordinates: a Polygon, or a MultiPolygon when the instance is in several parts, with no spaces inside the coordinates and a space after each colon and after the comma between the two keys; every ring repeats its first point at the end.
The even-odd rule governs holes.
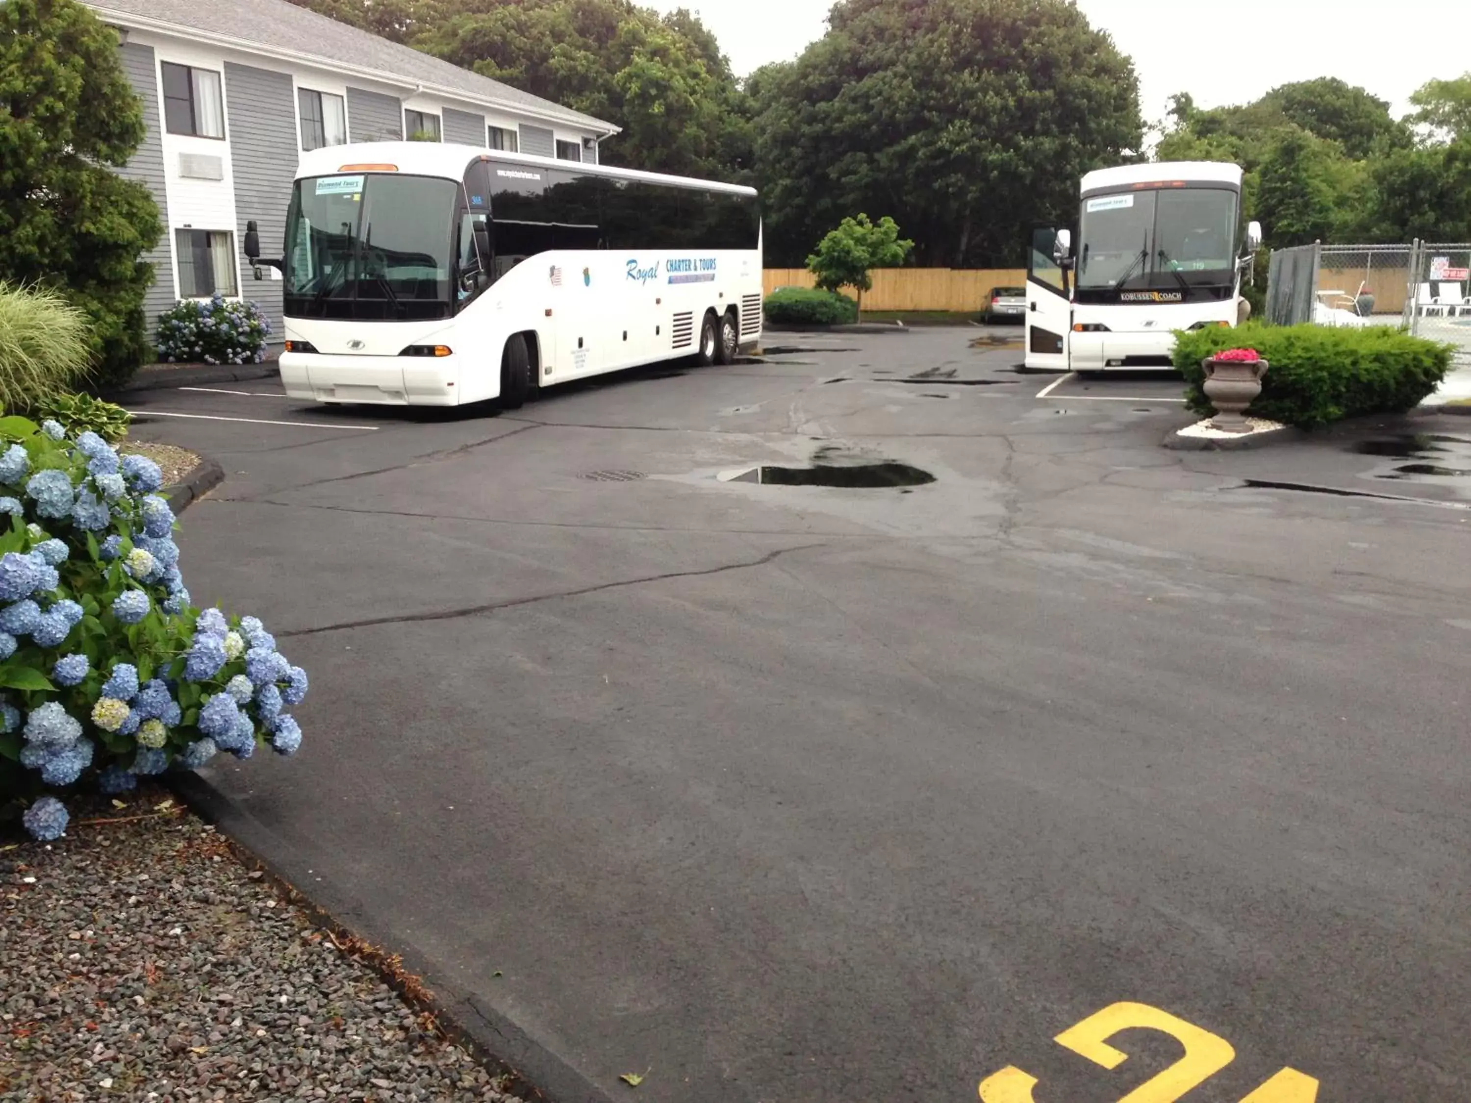
{"type": "Polygon", "coordinates": [[[449,318],[459,184],[341,174],[296,182],[285,228],[285,315],[449,318]]]}

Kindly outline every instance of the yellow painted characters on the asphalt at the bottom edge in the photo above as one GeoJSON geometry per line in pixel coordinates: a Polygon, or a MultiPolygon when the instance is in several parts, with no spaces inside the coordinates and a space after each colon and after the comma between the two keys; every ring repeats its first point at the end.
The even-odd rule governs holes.
{"type": "MultiPolygon", "coordinates": [[[[1174,1103],[1236,1057],[1236,1050],[1225,1038],[1144,1003],[1108,1006],[1062,1031],[1055,1041],[1094,1065],[1115,1069],[1128,1060],[1128,1054],[1109,1046],[1108,1040],[1125,1029],[1168,1034],[1184,1047],[1186,1054],[1118,1103],[1174,1103]]],[[[1036,1103],[1031,1093],[1036,1085],[1036,1077],[1008,1066],[981,1081],[981,1103],[1036,1103]]],[[[1318,1081],[1294,1069],[1283,1069],[1242,1103],[1314,1103],[1317,1097],[1318,1081]]]]}

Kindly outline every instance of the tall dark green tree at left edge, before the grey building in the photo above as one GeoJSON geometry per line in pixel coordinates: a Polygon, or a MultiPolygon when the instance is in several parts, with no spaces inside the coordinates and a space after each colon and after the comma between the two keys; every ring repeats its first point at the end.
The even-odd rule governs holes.
{"type": "Polygon", "coordinates": [[[115,31],[76,0],[0,4],[0,279],[54,287],[88,313],[100,382],[147,354],[141,256],[159,210],[112,171],[143,134],[115,31]]]}

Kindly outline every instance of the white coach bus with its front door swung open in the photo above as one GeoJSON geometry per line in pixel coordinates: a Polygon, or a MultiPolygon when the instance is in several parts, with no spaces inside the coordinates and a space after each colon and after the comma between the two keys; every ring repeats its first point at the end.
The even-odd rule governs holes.
{"type": "Polygon", "coordinates": [[[1262,231],[1242,225],[1242,169],[1156,162],[1083,178],[1078,246],[1037,229],[1027,265],[1028,368],[1171,366],[1172,331],[1236,325],[1262,231]]]}

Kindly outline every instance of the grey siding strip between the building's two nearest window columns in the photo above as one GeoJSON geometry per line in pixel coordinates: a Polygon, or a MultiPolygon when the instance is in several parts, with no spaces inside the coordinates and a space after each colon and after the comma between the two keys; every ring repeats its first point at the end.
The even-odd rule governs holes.
{"type": "Polygon", "coordinates": [[[240,259],[240,293],[271,319],[271,341],[281,334],[281,281],[256,282],[246,260],[246,222],[256,221],[263,256],[281,256],[285,207],[296,178],[296,97],[291,75],[225,62],[225,101],[229,118],[229,151],[235,171],[235,253],[240,259]]]}

